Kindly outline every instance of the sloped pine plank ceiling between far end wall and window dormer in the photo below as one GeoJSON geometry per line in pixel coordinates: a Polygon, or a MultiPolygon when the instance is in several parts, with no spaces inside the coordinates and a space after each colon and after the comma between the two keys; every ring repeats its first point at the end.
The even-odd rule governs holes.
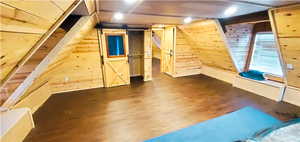
{"type": "Polygon", "coordinates": [[[237,72],[222,36],[224,33],[217,21],[203,20],[178,26],[178,28],[186,35],[185,37],[203,64],[237,72]]]}

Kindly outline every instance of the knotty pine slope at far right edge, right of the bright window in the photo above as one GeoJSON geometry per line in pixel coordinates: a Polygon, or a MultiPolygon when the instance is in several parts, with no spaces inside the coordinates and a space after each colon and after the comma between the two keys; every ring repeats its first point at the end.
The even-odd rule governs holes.
{"type": "Polygon", "coordinates": [[[287,83],[300,88],[300,5],[274,9],[270,14],[283,60],[293,66],[287,70],[287,83]]]}

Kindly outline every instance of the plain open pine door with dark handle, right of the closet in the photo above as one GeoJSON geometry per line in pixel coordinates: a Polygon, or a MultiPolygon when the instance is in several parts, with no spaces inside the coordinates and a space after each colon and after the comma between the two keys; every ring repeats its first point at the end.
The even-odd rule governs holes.
{"type": "Polygon", "coordinates": [[[162,42],[162,51],[161,51],[161,68],[162,72],[165,72],[169,75],[174,73],[174,50],[175,50],[175,28],[166,27],[164,30],[164,39],[162,42]]]}

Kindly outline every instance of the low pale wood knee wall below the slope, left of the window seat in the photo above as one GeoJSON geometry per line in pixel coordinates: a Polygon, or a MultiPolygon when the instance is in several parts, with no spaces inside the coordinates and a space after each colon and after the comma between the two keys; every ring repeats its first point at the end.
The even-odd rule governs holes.
{"type": "Polygon", "coordinates": [[[222,69],[217,69],[209,66],[202,66],[201,74],[232,84],[237,73],[225,71],[222,69]]]}

